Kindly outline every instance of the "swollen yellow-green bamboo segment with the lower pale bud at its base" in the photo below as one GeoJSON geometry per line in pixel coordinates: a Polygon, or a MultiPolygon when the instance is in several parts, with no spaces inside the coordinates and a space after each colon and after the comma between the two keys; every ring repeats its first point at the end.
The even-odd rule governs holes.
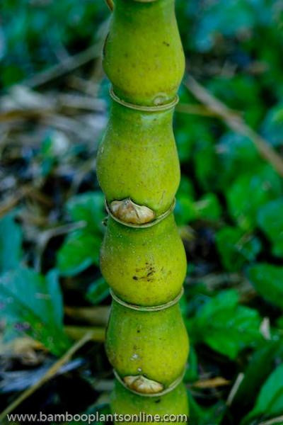
{"type": "Polygon", "coordinates": [[[187,360],[187,332],[179,305],[156,312],[138,311],[114,300],[106,352],[128,387],[134,385],[129,377],[141,375],[158,383],[158,387],[141,385],[139,390],[134,385],[132,389],[142,393],[163,391],[183,374],[187,360]]]}

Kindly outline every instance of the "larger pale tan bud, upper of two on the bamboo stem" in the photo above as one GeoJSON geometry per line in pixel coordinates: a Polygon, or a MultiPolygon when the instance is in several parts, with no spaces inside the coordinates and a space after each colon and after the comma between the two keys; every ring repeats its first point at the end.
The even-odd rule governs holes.
{"type": "Polygon", "coordinates": [[[153,210],[145,205],[137,205],[130,198],[113,200],[110,203],[110,210],[122,222],[133,225],[144,225],[154,220],[155,217],[153,210]]]}

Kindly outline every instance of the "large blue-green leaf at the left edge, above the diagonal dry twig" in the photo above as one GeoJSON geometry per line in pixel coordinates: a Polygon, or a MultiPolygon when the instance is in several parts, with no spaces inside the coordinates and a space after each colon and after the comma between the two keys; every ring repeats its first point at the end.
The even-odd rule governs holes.
{"type": "Polygon", "coordinates": [[[46,278],[30,268],[6,272],[0,278],[0,305],[9,324],[41,341],[52,353],[59,356],[69,348],[56,271],[46,278]]]}

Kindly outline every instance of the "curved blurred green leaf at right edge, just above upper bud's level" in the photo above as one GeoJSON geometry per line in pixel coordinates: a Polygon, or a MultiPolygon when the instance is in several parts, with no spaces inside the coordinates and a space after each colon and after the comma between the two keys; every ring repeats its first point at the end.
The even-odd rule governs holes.
{"type": "Polygon", "coordinates": [[[258,210],[282,193],[282,182],[270,165],[264,165],[255,174],[243,174],[226,193],[228,208],[242,229],[256,225],[258,210]]]}

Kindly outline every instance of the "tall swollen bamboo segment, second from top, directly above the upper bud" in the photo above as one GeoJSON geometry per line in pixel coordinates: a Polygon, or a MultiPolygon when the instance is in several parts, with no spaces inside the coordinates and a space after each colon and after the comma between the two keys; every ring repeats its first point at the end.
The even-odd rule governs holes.
{"type": "Polygon", "coordinates": [[[146,221],[170,208],[180,183],[172,118],[173,108],[149,113],[112,104],[97,159],[98,181],[109,205],[130,198],[152,210],[146,221]]]}

